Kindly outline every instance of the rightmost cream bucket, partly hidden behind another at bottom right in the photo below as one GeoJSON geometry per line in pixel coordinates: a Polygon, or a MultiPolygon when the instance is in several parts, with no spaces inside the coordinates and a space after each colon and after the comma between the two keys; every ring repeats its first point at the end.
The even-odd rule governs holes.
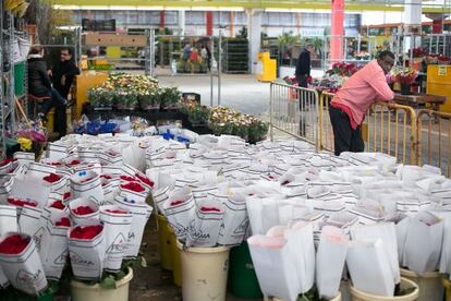
{"type": "Polygon", "coordinates": [[[411,279],[418,285],[418,301],[443,300],[444,288],[441,281],[441,275],[438,272],[425,273],[422,276],[416,273],[400,268],[401,276],[411,279]]]}

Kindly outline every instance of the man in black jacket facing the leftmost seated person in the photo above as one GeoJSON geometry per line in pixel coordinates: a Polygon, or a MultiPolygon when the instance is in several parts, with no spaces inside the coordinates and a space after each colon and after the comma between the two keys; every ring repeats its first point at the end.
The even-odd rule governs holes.
{"type": "MultiPolygon", "coordinates": [[[[75,61],[73,60],[73,52],[71,48],[61,49],[60,61],[53,67],[50,74],[51,80],[53,82],[53,87],[65,99],[68,99],[69,92],[71,91],[74,77],[75,75],[80,74],[80,70],[75,65],[75,61]]],[[[54,131],[57,131],[60,134],[60,136],[64,136],[66,134],[65,108],[59,108],[58,110],[56,110],[54,119],[58,120],[58,122],[54,123],[54,131]],[[61,125],[57,125],[57,123],[61,125]]]]}

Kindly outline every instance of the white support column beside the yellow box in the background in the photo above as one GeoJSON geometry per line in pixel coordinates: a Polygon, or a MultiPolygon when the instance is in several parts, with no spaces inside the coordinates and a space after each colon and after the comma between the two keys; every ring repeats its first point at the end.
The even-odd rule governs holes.
{"type": "Polygon", "coordinates": [[[261,14],[263,10],[251,9],[247,13],[247,39],[249,45],[251,72],[257,72],[258,52],[261,44],[261,14]]]}

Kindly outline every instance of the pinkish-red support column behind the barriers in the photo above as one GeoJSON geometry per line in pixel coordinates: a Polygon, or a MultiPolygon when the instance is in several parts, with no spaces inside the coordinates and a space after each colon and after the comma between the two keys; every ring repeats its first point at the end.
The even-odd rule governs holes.
{"type": "Polygon", "coordinates": [[[344,41],[344,0],[332,0],[331,12],[331,38],[330,60],[337,62],[343,60],[344,41]]]}

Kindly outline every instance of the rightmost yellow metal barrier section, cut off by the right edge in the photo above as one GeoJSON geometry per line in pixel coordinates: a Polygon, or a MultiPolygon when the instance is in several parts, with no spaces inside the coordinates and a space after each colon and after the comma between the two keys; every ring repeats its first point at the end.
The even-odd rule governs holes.
{"type": "Polygon", "coordinates": [[[437,166],[450,177],[451,113],[419,110],[416,130],[416,164],[437,166]]]}

